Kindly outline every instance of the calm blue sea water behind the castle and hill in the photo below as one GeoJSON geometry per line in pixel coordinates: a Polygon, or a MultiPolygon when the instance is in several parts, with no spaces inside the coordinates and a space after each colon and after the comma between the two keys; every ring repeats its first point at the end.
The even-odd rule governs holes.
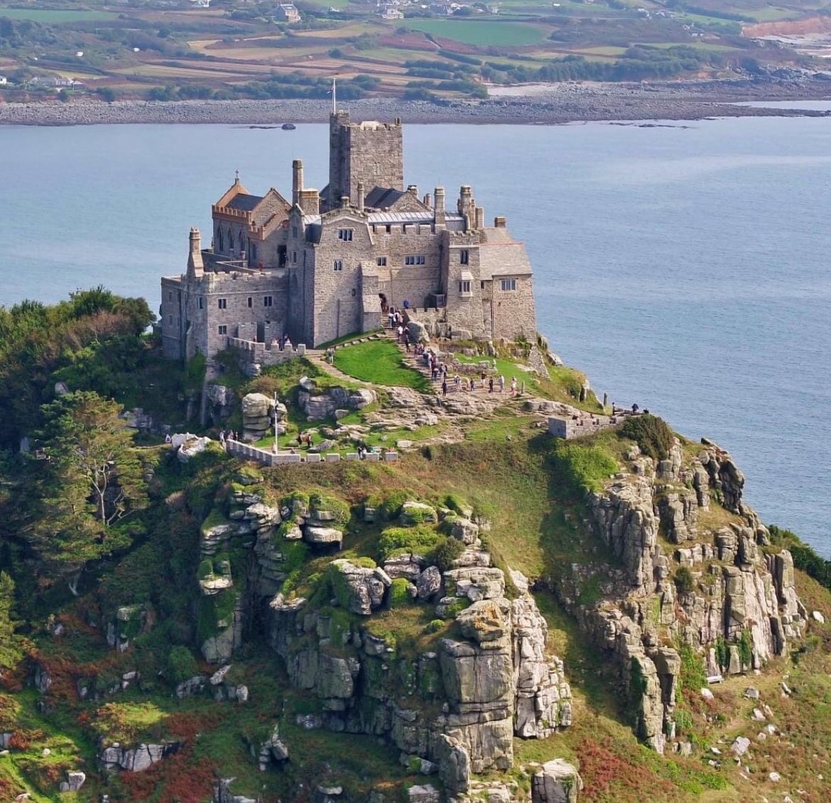
{"type": "MultiPolygon", "coordinates": [[[[768,523],[831,557],[831,119],[411,126],[406,180],[473,185],[536,271],[553,349],[728,448],[768,523]],[[829,406],[826,406],[829,405],[829,406]]],[[[327,131],[0,127],[0,303],[106,284],[155,307],[234,170],[327,183],[327,131]]]]}

